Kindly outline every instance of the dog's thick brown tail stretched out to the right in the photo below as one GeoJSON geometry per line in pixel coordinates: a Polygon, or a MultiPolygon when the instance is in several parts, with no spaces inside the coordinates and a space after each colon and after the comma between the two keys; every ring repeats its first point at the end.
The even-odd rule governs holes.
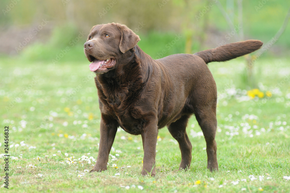
{"type": "Polygon", "coordinates": [[[260,40],[247,40],[200,51],[194,55],[202,58],[206,64],[209,62],[223,62],[256,51],[260,49],[262,45],[263,42],[260,40]]]}

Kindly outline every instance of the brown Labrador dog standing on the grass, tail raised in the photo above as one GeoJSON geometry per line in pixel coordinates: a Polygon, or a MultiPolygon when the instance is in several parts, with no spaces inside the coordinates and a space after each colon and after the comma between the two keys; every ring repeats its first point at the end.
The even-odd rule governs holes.
{"type": "Polygon", "coordinates": [[[91,171],[107,169],[117,128],[142,136],[142,175],[155,176],[158,129],[168,127],[179,143],[181,163],[191,163],[191,142],[186,134],[189,117],[195,114],[206,141],[207,168],[218,170],[215,131],[217,89],[207,63],[221,62],[251,53],[259,40],[226,44],[195,54],[174,54],[153,60],[127,26],[111,23],[94,26],[84,53],[95,72],[101,110],[100,146],[91,171]]]}

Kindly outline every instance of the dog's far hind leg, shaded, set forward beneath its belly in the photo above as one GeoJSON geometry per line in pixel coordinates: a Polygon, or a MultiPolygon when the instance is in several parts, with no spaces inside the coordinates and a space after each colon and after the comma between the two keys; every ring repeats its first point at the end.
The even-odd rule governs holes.
{"type": "Polygon", "coordinates": [[[186,125],[188,119],[189,115],[183,115],[180,119],[171,123],[168,126],[169,132],[174,137],[174,139],[176,139],[177,142],[179,143],[179,148],[181,151],[181,162],[179,170],[182,169],[186,170],[187,168],[190,167],[191,163],[192,146],[186,133],[186,125]]]}

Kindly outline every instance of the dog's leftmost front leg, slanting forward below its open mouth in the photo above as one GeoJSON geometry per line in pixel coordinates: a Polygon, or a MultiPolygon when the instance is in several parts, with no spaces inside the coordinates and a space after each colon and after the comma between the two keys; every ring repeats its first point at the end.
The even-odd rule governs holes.
{"type": "Polygon", "coordinates": [[[90,172],[103,171],[107,169],[109,153],[111,151],[115,135],[117,132],[118,123],[114,119],[104,119],[102,115],[100,125],[100,146],[97,157],[97,162],[90,172]]]}

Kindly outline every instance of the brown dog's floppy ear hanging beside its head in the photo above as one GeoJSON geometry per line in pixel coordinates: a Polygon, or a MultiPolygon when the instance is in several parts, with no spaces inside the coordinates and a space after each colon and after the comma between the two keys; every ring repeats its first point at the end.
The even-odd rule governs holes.
{"type": "Polygon", "coordinates": [[[140,38],[127,26],[121,24],[117,25],[122,33],[119,48],[122,53],[125,53],[129,49],[133,48],[137,42],[140,41],[140,38]]]}

